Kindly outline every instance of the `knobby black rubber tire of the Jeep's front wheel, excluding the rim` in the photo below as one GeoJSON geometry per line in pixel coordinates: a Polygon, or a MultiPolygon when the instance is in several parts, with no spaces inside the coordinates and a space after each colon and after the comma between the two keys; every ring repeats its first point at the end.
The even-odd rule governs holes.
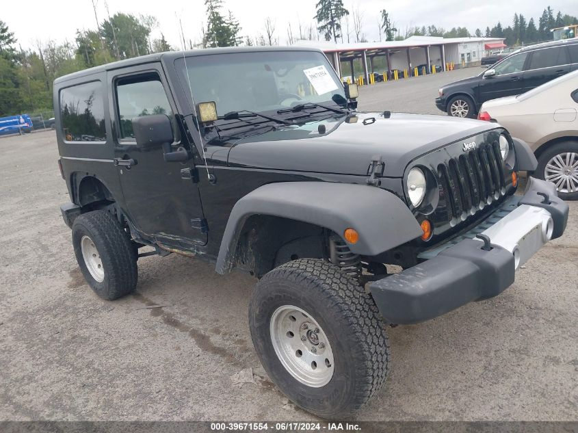
{"type": "Polygon", "coordinates": [[[249,306],[253,345],[265,371],[295,404],[326,418],[358,411],[382,387],[389,368],[389,343],[379,311],[357,281],[321,259],[298,259],[265,274],[249,306]],[[308,312],[332,347],[334,373],[321,387],[296,380],[280,362],[270,322],[279,306],[308,312]]]}

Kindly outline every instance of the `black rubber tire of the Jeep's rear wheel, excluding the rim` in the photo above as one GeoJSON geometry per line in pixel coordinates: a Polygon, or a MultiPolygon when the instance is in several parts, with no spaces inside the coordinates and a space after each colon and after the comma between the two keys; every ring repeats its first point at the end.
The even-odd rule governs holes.
{"type": "Polygon", "coordinates": [[[137,285],[137,256],[120,223],[107,211],[79,215],[73,224],[73,246],[80,270],[98,296],[115,300],[128,295],[137,285]],[[102,282],[93,278],[81,250],[81,239],[90,237],[100,254],[104,270],[102,282]]]}

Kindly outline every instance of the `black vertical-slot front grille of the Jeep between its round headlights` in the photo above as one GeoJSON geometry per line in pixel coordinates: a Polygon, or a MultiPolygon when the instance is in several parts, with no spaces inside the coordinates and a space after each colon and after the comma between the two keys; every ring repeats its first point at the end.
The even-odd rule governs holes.
{"type": "Polygon", "coordinates": [[[505,170],[499,144],[483,144],[437,168],[440,199],[452,226],[505,194],[505,170]]]}

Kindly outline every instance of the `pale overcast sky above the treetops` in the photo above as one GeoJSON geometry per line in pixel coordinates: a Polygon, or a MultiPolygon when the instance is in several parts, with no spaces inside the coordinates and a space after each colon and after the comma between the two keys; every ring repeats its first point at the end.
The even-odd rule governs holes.
{"type": "MultiPolygon", "coordinates": [[[[202,23],[205,20],[204,0],[94,0],[98,21],[109,13],[125,12],[147,14],[157,18],[159,28],[153,38],[162,32],[173,47],[181,48],[179,18],[183,23],[185,40],[193,43],[200,40],[202,23]]],[[[14,1],[2,2],[0,19],[8,24],[23,49],[36,46],[36,41],[73,42],[77,29],[96,29],[92,0],[25,0],[25,7],[16,7],[14,1]],[[13,7],[14,5],[14,7],[13,7]]],[[[223,0],[224,12],[231,10],[241,25],[241,35],[256,38],[265,33],[265,19],[271,18],[276,27],[275,36],[279,44],[287,44],[289,24],[293,35],[298,34],[298,24],[303,27],[314,25],[317,0],[223,0]]],[[[548,5],[555,12],[578,16],[577,0],[356,0],[343,1],[345,8],[358,10],[363,16],[363,33],[367,40],[379,40],[378,20],[380,10],[389,12],[395,27],[402,31],[406,27],[436,25],[450,29],[465,26],[471,33],[486,26],[492,27],[501,21],[503,27],[511,25],[515,12],[522,13],[527,21],[534,17],[536,26],[542,10],[548,5]]],[[[344,29],[345,33],[345,29],[344,29]]],[[[353,25],[350,16],[350,33],[353,25]]],[[[344,36],[345,42],[347,37],[344,36]]],[[[354,39],[351,40],[354,42],[354,39]]]]}

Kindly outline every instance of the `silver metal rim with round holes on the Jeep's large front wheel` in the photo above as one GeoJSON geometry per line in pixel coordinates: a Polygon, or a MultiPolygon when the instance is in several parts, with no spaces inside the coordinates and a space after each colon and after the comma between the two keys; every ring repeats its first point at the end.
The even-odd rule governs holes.
{"type": "Polygon", "coordinates": [[[297,306],[280,306],[271,317],[270,334],[278,359],[293,378],[313,388],[330,382],[333,351],[311,315],[297,306]]]}

